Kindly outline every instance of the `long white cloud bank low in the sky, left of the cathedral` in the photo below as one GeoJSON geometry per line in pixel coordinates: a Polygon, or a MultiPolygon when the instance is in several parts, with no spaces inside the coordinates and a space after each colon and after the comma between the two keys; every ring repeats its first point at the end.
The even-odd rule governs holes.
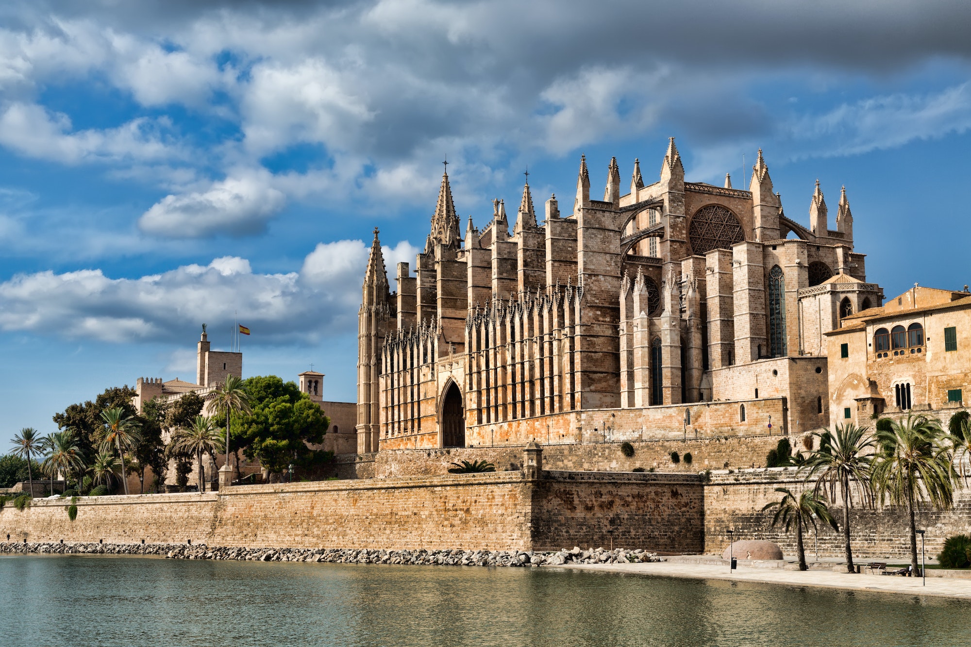
{"type": "MultiPolygon", "coordinates": [[[[353,329],[368,247],[321,243],[299,272],[253,273],[250,261],[222,256],[161,274],[113,279],[100,269],[18,274],[0,283],[0,330],[109,342],[170,341],[200,323],[218,329],[238,317],[252,342],[316,342],[353,329]]],[[[385,248],[397,262],[417,249],[385,248]]]]}

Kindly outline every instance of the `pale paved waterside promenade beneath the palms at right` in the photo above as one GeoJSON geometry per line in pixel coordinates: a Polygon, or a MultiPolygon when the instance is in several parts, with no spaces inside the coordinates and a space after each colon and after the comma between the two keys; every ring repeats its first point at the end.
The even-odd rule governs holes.
{"type": "MultiPolygon", "coordinates": [[[[558,566],[546,566],[558,567],[558,566]]],[[[782,568],[739,567],[729,573],[727,564],[692,564],[678,562],[568,564],[564,568],[659,575],[663,577],[692,577],[699,579],[731,580],[734,582],[764,582],[791,586],[829,587],[878,593],[917,596],[961,597],[971,599],[971,580],[928,577],[922,586],[919,577],[892,575],[851,575],[831,570],[784,570],[782,568]]]]}

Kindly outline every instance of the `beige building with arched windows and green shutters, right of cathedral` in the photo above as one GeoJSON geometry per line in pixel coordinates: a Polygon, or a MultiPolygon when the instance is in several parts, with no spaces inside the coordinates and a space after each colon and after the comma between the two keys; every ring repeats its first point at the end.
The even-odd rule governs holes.
{"type": "Polygon", "coordinates": [[[926,413],[947,422],[971,394],[971,293],[914,285],[887,304],[847,314],[824,333],[829,423],[926,413]]]}

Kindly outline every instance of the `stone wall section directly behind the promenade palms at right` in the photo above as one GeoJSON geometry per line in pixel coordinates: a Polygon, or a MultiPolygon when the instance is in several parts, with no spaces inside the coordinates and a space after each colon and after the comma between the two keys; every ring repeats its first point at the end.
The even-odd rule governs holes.
{"type": "MultiPolygon", "coordinates": [[[[795,555],[795,530],[786,532],[783,527],[772,528],[772,514],[761,512],[766,503],[782,498],[783,494],[775,492],[780,487],[798,495],[812,484],[797,476],[794,468],[715,475],[705,487],[704,551],[720,554],[728,546],[725,530],[734,528],[736,540],[768,539],[782,546],[786,555],[795,555]]],[[[842,501],[839,491],[836,498],[842,501]]],[[[917,514],[918,528],[927,530],[924,540],[928,557],[936,556],[944,540],[951,535],[967,533],[971,529],[971,491],[959,490],[954,503],[953,510],[921,511],[917,514]]],[[[830,509],[842,528],[842,505],[834,505],[830,509]]],[[[850,528],[854,558],[857,555],[864,558],[909,556],[910,528],[907,511],[903,508],[880,505],[874,508],[853,507],[850,528]]],[[[820,558],[842,558],[845,553],[842,529],[837,532],[820,526],[818,533],[812,530],[806,533],[804,542],[807,559],[815,557],[817,545],[820,558]]]]}

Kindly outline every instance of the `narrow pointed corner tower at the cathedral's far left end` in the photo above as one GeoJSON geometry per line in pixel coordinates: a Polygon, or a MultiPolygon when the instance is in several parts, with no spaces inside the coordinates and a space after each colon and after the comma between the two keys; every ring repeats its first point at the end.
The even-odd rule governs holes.
{"type": "Polygon", "coordinates": [[[379,402],[378,382],[381,352],[385,334],[394,315],[388,291],[385,256],[381,252],[378,229],[364,272],[361,307],[357,314],[357,453],[378,451],[379,402]]]}

